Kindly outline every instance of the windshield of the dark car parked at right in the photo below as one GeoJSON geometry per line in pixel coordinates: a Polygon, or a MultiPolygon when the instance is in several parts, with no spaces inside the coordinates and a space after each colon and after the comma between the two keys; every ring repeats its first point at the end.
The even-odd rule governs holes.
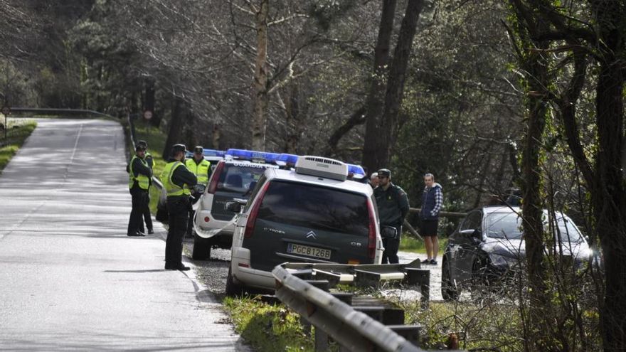
{"type": "MultiPolygon", "coordinates": [[[[521,239],[521,217],[514,212],[490,213],[487,215],[487,236],[491,238],[507,238],[509,240],[521,239]]],[[[557,214],[558,234],[563,242],[579,242],[580,231],[572,220],[557,214]]],[[[544,224],[548,230],[548,223],[544,224]]]]}

